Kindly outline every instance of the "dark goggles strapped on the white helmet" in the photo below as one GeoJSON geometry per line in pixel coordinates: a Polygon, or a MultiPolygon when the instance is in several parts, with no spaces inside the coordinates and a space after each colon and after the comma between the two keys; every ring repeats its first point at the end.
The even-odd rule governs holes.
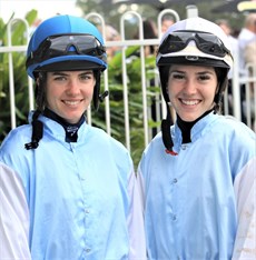
{"type": "Polygon", "coordinates": [[[183,30],[171,32],[160,44],[158,52],[167,54],[180,51],[185,49],[191,40],[196,42],[197,48],[204,53],[220,58],[230,54],[230,51],[218,37],[208,32],[183,30]]]}

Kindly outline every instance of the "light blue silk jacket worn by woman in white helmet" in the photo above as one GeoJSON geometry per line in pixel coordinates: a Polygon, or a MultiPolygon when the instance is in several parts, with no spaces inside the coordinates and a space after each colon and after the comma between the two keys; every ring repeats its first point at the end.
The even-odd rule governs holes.
{"type": "Polygon", "coordinates": [[[171,127],[174,150],[159,133],[139,164],[150,260],[256,259],[256,139],[245,124],[208,114],[191,142],[171,127]]]}

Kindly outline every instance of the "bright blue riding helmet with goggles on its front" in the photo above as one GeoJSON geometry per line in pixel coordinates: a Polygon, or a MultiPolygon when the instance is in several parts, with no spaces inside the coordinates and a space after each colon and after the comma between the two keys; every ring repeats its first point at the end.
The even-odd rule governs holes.
{"type": "Polygon", "coordinates": [[[89,21],[56,16],[43,21],[32,34],[27,51],[27,72],[99,70],[107,68],[102,36],[89,21]]]}

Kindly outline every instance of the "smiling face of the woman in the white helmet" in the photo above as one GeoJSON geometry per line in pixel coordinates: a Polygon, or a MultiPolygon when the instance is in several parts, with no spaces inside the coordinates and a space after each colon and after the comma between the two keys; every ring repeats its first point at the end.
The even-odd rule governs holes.
{"type": "Polygon", "coordinates": [[[213,67],[171,66],[167,92],[177,114],[191,122],[214,107],[217,84],[213,67]]]}

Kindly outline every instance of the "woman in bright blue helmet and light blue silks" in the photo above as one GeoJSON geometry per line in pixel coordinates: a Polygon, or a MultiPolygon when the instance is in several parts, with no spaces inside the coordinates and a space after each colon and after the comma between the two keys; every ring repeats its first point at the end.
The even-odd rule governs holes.
{"type": "Polygon", "coordinates": [[[56,16],[32,34],[26,66],[36,82],[37,109],[0,150],[9,167],[1,176],[11,177],[1,190],[9,210],[1,211],[6,250],[0,257],[145,258],[130,156],[83,116],[91,101],[97,109],[102,98],[106,60],[101,34],[85,19],[56,16]]]}

